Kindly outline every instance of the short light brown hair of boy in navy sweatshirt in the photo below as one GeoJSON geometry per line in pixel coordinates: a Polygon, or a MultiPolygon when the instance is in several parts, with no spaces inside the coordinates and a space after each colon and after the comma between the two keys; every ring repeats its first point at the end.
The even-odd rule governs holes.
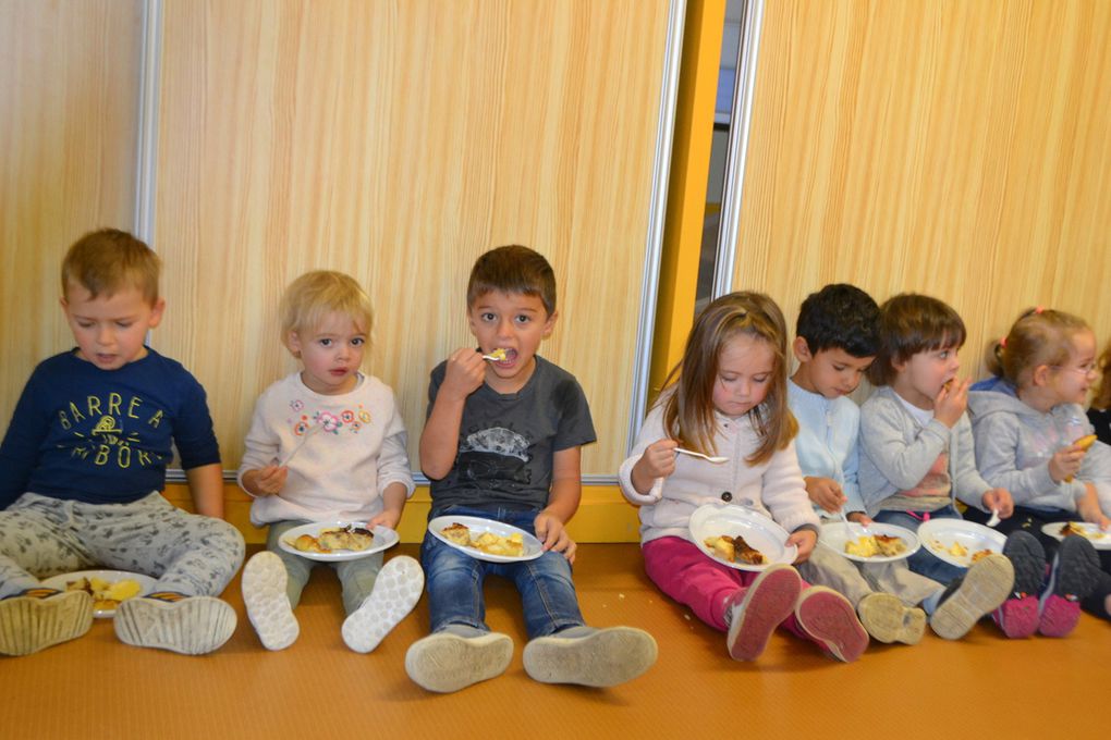
{"type": "Polygon", "coordinates": [[[158,277],[162,261],[142,241],[126,231],[101,229],[89,232],[69,249],[62,260],[62,295],[71,283],[81,285],[92,297],[114,295],[136,287],[148,304],[158,303],[158,277]]]}

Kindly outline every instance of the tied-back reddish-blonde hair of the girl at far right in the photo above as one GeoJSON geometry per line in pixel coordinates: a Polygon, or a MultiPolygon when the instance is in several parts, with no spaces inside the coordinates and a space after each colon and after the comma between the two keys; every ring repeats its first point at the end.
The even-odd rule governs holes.
{"type": "Polygon", "coordinates": [[[1025,387],[1039,365],[1063,365],[1072,355],[1072,337],[1091,331],[1080,316],[1030,308],[1022,312],[1007,336],[988,346],[988,371],[1014,387],[1025,387]]]}

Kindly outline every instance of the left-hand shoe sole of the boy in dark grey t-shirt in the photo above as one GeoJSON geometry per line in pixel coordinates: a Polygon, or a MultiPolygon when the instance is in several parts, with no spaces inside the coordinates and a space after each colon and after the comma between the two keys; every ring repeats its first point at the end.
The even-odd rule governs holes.
{"type": "Polygon", "coordinates": [[[406,672],[418,686],[451,693],[506,672],[513,658],[508,635],[460,637],[437,632],[417,640],[406,652],[406,672]]]}

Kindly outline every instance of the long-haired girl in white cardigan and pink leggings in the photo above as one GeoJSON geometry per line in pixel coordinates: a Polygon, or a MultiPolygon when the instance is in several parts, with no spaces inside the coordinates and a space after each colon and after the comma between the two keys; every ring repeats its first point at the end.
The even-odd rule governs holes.
{"type": "Polygon", "coordinates": [[[868,647],[853,606],[809,586],[788,564],[738,570],[702,553],[690,518],[700,506],[733,504],[771,517],[798,547],[818,541],[787,406],[787,327],[779,306],[758,293],[732,293],[699,315],[680,364],[621,465],[621,491],[640,507],[649,578],[711,627],[727,632],[734,660],[754,660],[783,625],[833,657],[852,661],[868,647]],[[724,463],[678,455],[682,447],[724,463]]]}

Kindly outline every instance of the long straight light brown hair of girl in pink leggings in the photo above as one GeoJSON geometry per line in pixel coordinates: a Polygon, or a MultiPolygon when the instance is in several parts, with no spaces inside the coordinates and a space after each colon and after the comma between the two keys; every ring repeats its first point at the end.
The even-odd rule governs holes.
{"type": "Polygon", "coordinates": [[[713,386],[722,349],[742,335],[767,343],[774,357],[768,395],[749,412],[761,443],[745,462],[758,465],[785,448],[799,430],[787,405],[787,322],[775,302],[762,293],[730,293],[694,320],[683,358],[664,381],[664,391],[673,392],[663,405],[663,428],[685,447],[717,452],[713,386]]]}

